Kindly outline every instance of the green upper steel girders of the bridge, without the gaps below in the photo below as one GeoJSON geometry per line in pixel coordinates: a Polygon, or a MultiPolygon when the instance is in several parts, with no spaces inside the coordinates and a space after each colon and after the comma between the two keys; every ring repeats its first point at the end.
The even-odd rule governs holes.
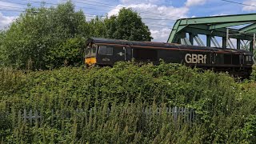
{"type": "MultiPolygon", "coordinates": [[[[240,42],[240,40],[248,40],[253,42],[254,34],[256,34],[256,14],[236,14],[215,17],[178,19],[175,22],[173,29],[171,30],[167,42],[180,43],[181,38],[186,38],[186,33],[189,33],[190,36],[198,34],[206,35],[206,43],[208,43],[208,45],[210,43],[211,37],[222,37],[222,47],[226,47],[226,38],[235,38],[238,40],[237,42],[240,42]],[[241,29],[230,28],[231,26],[242,25],[248,26],[245,26],[241,29]]],[[[189,39],[190,42],[193,41],[193,38],[189,39]]],[[[237,43],[237,46],[239,46],[239,49],[240,43],[237,43]]],[[[250,50],[253,50],[252,47],[250,47],[250,50]]]]}

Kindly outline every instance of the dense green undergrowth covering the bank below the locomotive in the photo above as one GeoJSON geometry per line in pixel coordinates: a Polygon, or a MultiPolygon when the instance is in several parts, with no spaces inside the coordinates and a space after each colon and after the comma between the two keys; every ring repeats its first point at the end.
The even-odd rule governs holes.
{"type": "MultiPolygon", "coordinates": [[[[204,73],[177,64],[114,67],[64,67],[22,72],[0,70],[2,142],[59,143],[255,143],[256,73],[235,82],[227,74],[204,73]],[[182,106],[196,110],[197,121],[177,124],[170,115],[124,113],[143,107],[182,106]],[[106,115],[107,107],[115,107],[106,115]],[[18,122],[18,110],[96,110],[95,114],[50,119],[40,126],[18,122]]],[[[1,139],[0,139],[1,141],[1,139]]]]}

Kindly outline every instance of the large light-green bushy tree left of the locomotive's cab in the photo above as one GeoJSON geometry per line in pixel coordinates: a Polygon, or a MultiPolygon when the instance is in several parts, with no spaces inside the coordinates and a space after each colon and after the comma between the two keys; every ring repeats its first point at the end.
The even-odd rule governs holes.
{"type": "Polygon", "coordinates": [[[82,42],[88,34],[85,23],[84,14],[75,12],[71,2],[50,8],[28,7],[6,31],[6,65],[43,70],[64,62],[81,63],[82,42]]]}

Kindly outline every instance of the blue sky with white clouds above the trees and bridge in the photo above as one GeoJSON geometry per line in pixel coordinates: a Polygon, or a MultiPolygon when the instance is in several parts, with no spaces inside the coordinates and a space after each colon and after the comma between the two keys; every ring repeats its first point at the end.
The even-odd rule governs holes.
{"type": "MultiPolygon", "coordinates": [[[[15,18],[32,6],[56,6],[66,0],[0,0],[0,30],[6,29],[15,18]]],[[[166,42],[178,18],[206,17],[226,14],[256,13],[256,0],[73,0],[77,10],[83,10],[86,19],[118,14],[122,7],[130,7],[150,28],[154,42],[166,42]],[[238,4],[238,3],[242,4],[238,4]]]]}

